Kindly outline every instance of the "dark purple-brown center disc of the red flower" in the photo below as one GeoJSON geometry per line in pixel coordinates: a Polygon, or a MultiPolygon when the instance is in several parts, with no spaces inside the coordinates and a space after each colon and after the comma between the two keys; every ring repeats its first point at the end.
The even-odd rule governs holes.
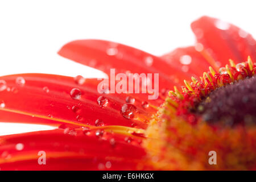
{"type": "Polygon", "coordinates": [[[197,106],[196,113],[209,123],[234,126],[256,123],[256,77],[217,88],[197,106]]]}

